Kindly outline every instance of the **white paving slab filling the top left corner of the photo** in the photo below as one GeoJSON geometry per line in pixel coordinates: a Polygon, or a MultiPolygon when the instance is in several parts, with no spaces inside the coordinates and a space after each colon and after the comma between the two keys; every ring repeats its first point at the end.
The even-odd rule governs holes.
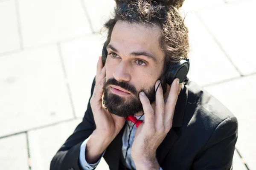
{"type": "Polygon", "coordinates": [[[20,49],[15,0],[0,1],[0,54],[20,49]]]}

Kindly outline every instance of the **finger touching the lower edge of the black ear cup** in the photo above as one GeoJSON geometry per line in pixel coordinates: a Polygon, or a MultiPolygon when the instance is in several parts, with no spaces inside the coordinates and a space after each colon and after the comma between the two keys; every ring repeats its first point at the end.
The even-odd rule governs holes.
{"type": "Polygon", "coordinates": [[[173,119],[173,114],[174,114],[174,110],[175,110],[175,106],[176,106],[176,102],[177,102],[177,97],[178,97],[178,83],[179,83],[179,79],[175,79],[172,83],[171,86],[171,90],[169,92],[169,96],[166,102],[166,107],[165,107],[165,125],[172,125],[172,119],[173,119]]]}

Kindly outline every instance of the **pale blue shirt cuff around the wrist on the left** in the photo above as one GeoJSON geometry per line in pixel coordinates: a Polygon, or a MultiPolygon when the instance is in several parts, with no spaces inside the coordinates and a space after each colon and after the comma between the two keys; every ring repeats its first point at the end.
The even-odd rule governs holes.
{"type": "Polygon", "coordinates": [[[88,164],[86,159],[85,159],[85,148],[86,148],[86,144],[87,144],[87,141],[88,141],[89,138],[87,138],[82,144],[81,144],[81,147],[80,147],[80,153],[79,153],[79,162],[80,162],[80,165],[81,167],[83,168],[83,170],[94,170],[97,165],[99,164],[99,161],[101,160],[102,156],[104,155],[105,151],[102,153],[102,156],[100,157],[99,161],[97,161],[96,163],[94,164],[88,164]]]}

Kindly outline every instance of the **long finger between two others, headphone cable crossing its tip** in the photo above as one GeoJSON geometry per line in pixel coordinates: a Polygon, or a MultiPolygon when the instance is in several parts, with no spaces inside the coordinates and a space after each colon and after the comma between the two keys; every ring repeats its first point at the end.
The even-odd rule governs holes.
{"type": "MultiPolygon", "coordinates": [[[[157,89],[157,86],[159,85],[160,80],[158,80],[155,84],[155,89],[157,89]]],[[[162,127],[164,125],[164,110],[165,110],[165,104],[163,100],[163,88],[161,86],[161,83],[156,91],[156,107],[155,107],[155,126],[156,127],[162,127]]]]}

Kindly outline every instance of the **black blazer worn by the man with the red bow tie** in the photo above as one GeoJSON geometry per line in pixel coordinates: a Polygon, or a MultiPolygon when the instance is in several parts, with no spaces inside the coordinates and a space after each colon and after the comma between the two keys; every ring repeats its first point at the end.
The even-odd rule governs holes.
{"type": "MultiPolygon", "coordinates": [[[[94,85],[95,79],[91,96],[94,85]]],[[[50,170],[82,170],[79,166],[80,146],[95,128],[88,102],[83,121],[55,154],[50,170]]],[[[232,170],[237,128],[236,117],[189,80],[180,91],[172,129],[157,148],[158,163],[163,170],[232,170]]],[[[123,130],[113,139],[104,155],[110,170],[119,170],[119,162],[123,159],[123,130]]]]}

